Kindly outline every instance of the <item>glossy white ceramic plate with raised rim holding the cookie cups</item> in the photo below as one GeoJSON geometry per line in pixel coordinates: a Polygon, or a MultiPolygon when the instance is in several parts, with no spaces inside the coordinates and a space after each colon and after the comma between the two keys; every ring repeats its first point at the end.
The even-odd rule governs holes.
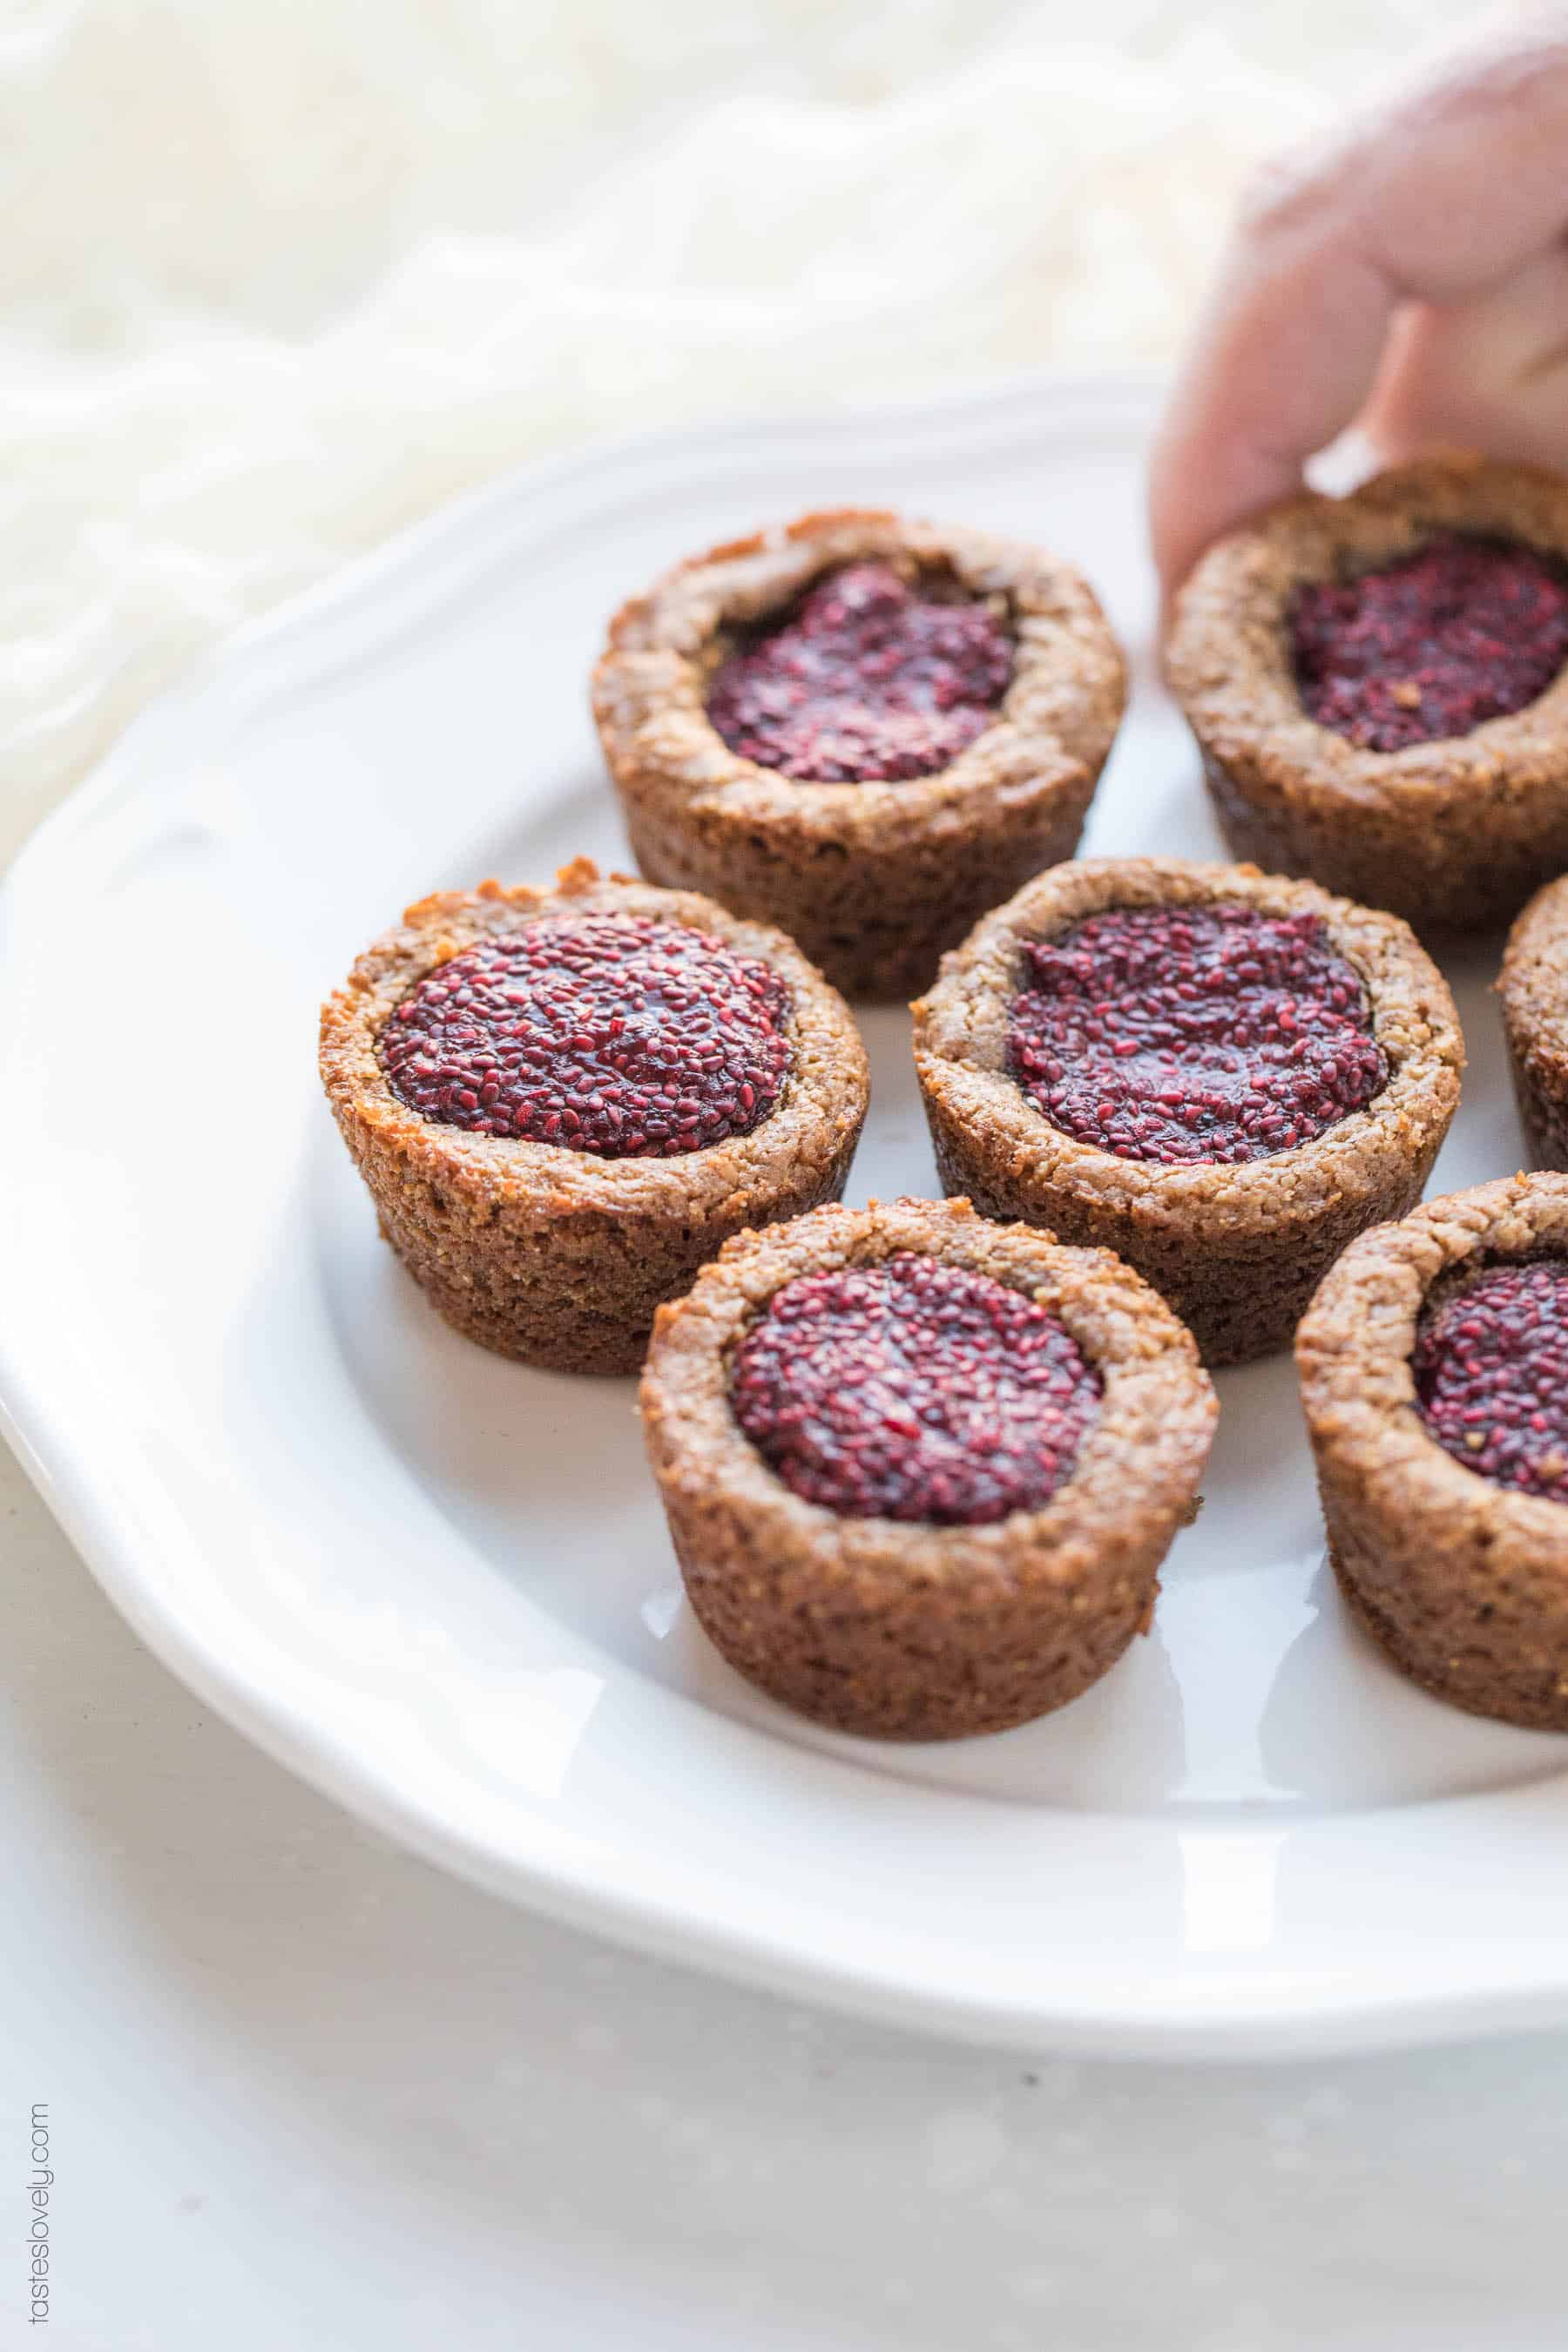
{"type": "MultiPolygon", "coordinates": [[[[1150,390],[1053,381],[534,470],[247,633],[14,870],[0,1385],[94,1571],[214,1708],[454,1870],[661,1952],[1034,2046],[1258,2053],[1568,2018],[1568,1743],[1349,1630],[1288,1362],[1220,1381],[1154,1635],[1063,1715],[872,1748],[684,1609],[630,1383],[454,1338],[376,1240],[315,1009],[409,898],[625,861],[585,717],[611,604],[811,503],[1074,555],[1138,652],[1088,847],[1218,837],[1150,666],[1150,390]]],[[[1495,950],[1439,1190],[1519,1164],[1495,950]]],[[[926,1192],[865,1021],[851,1200],[926,1192]]]]}

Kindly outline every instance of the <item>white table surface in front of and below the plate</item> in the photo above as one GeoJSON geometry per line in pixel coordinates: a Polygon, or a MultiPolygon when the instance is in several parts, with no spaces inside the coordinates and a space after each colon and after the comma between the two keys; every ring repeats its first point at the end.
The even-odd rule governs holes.
{"type": "Polygon", "coordinates": [[[804,2013],[355,1828],[146,1656],[9,1456],[0,1555],[7,2347],[1568,2340],[1568,2037],[1133,2067],[804,2013]]]}

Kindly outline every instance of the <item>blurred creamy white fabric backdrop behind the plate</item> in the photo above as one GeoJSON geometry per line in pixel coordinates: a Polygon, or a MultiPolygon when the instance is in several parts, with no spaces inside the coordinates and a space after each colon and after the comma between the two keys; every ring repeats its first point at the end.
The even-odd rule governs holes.
{"type": "Polygon", "coordinates": [[[0,856],[153,687],[588,433],[1159,358],[1465,0],[12,0],[0,856]]]}

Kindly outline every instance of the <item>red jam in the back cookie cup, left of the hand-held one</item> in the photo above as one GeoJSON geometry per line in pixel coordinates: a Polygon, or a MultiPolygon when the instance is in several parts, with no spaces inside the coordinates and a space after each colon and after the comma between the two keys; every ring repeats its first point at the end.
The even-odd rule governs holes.
{"type": "Polygon", "coordinates": [[[1011,675],[1013,637],[990,604],[844,564],[715,670],[708,717],[743,760],[797,783],[903,781],[957,760],[1011,675]]]}

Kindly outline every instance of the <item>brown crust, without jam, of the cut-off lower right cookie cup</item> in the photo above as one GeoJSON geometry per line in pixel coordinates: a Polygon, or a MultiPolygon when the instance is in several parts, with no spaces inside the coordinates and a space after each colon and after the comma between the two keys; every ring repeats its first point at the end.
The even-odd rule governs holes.
{"type": "Polygon", "coordinates": [[[1345,1251],[1302,1319],[1328,1550],[1356,1618],[1472,1715],[1568,1731],[1568,1508],[1495,1486],[1427,1435],[1410,1350],[1439,1277],[1568,1254],[1568,1178],[1450,1192],[1345,1251]]]}

